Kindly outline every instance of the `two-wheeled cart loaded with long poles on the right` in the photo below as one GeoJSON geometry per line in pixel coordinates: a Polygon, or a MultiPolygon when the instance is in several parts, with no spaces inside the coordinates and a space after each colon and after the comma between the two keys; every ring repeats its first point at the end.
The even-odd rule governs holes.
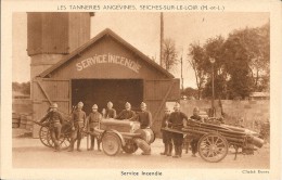
{"type": "Polygon", "coordinates": [[[200,156],[211,163],[222,160],[230,145],[248,149],[254,151],[254,146],[261,147],[264,140],[255,137],[249,130],[227,125],[213,125],[207,123],[198,123],[189,119],[185,127],[181,130],[174,128],[163,128],[165,131],[182,133],[192,139],[197,140],[197,151],[200,156]]]}

